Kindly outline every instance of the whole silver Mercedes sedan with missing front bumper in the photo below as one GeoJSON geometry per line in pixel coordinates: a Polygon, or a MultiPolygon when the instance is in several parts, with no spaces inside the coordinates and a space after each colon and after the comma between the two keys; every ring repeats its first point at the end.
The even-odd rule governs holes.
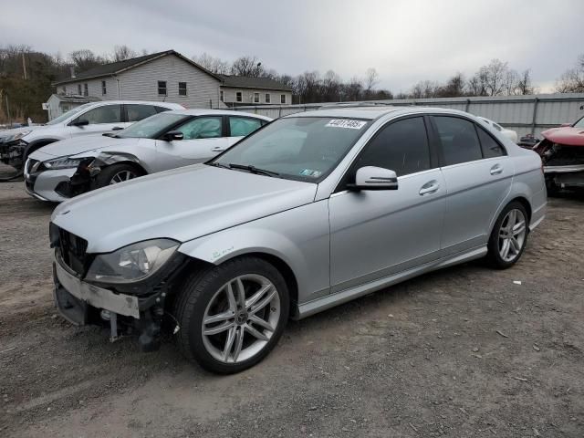
{"type": "Polygon", "coordinates": [[[149,350],[170,329],[190,360],[237,372],[288,318],[474,258],[514,265],[546,203],[537,154],[470,114],[294,114],[210,162],[60,204],[55,299],[112,339],[149,350]]]}

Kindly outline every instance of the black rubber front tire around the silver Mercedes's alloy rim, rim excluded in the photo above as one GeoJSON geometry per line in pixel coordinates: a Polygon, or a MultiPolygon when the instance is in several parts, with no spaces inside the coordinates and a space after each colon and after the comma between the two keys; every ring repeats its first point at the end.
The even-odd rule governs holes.
{"type": "Polygon", "coordinates": [[[185,315],[183,313],[183,321],[181,321],[181,323],[183,324],[183,322],[186,322],[186,325],[182,325],[181,329],[184,330],[183,336],[187,337],[185,340],[190,349],[190,354],[188,354],[188,356],[192,356],[193,359],[203,366],[205,370],[221,374],[230,374],[246,370],[254,366],[260,360],[263,360],[276,346],[276,343],[282,336],[287,324],[287,318],[289,315],[289,295],[286,281],[275,266],[270,265],[260,258],[242,257],[233,261],[225,262],[224,265],[215,266],[198,282],[189,286],[190,287],[183,290],[182,293],[195,294],[197,296],[197,305],[193,307],[192,315],[185,315]],[[224,284],[232,278],[245,274],[265,276],[274,284],[280,298],[280,319],[276,331],[268,340],[264,349],[248,360],[235,364],[226,364],[219,360],[215,360],[203,344],[203,315],[209,301],[214,297],[214,294],[220,287],[223,287],[224,284]],[[185,317],[188,317],[188,322],[185,317]]]}

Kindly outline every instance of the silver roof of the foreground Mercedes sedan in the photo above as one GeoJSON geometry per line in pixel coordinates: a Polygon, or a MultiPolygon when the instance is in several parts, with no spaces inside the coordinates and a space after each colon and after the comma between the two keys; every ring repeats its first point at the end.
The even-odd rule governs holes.
{"type": "Polygon", "coordinates": [[[311,110],[306,112],[297,112],[295,114],[290,114],[286,116],[291,117],[333,117],[339,119],[363,119],[363,120],[377,120],[388,114],[393,114],[395,116],[404,114],[455,114],[464,115],[466,117],[474,118],[472,114],[460,110],[450,110],[445,108],[435,108],[435,107],[417,107],[417,106],[407,106],[407,107],[392,107],[392,106],[355,106],[355,107],[336,107],[334,105],[321,107],[318,110],[311,110]]]}

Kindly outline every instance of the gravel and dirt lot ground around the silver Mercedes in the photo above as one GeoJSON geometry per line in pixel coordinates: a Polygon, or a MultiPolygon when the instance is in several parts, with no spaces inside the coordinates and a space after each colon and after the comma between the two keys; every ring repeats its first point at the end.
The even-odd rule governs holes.
{"type": "Polygon", "coordinates": [[[0,436],[584,436],[581,196],[550,201],[514,268],[456,266],[291,322],[229,377],[57,317],[51,210],[0,184],[0,436]]]}

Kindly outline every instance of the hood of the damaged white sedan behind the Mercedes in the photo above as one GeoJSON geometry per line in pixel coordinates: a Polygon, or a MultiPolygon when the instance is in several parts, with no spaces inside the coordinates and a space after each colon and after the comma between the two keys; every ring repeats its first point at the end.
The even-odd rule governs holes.
{"type": "Polygon", "coordinates": [[[51,157],[66,157],[107,148],[109,146],[123,147],[129,144],[135,144],[137,141],[140,141],[140,139],[112,139],[101,134],[85,135],[47,144],[47,146],[43,146],[38,150],[43,154],[42,159],[40,158],[40,154],[37,154],[38,156],[35,155],[36,152],[33,152],[30,158],[34,160],[47,160],[47,155],[51,157]]]}

